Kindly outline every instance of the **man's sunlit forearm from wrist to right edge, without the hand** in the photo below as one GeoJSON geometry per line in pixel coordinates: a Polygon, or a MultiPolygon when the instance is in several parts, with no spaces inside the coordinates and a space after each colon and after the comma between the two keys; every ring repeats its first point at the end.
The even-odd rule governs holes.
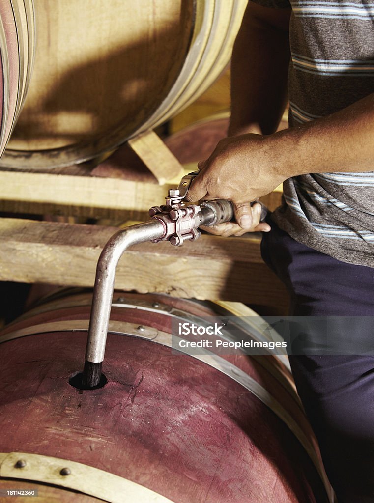
{"type": "Polygon", "coordinates": [[[284,179],[307,173],[374,171],[374,94],[327,117],[266,138],[284,179]]]}

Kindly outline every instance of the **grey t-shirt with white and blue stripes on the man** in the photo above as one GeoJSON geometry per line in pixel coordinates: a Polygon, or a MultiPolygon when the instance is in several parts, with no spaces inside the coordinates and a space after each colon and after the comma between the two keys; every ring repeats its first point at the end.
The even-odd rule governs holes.
{"type": "MultiPolygon", "coordinates": [[[[374,92],[374,3],[253,1],[292,8],[290,126],[374,92]]],[[[291,237],[343,262],[374,267],[374,172],[294,177],[284,182],[283,195],[272,218],[291,237]]]]}

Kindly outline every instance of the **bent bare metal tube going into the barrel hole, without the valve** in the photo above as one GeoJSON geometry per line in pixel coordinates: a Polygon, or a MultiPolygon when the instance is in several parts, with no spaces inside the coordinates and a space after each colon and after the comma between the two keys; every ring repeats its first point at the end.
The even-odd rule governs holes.
{"type": "Polygon", "coordinates": [[[83,371],[84,386],[92,388],[100,381],[119,259],[132,244],[152,241],[164,235],[165,227],[162,222],[157,219],[149,220],[116,232],[104,246],[96,268],[86,363],[83,371]]]}

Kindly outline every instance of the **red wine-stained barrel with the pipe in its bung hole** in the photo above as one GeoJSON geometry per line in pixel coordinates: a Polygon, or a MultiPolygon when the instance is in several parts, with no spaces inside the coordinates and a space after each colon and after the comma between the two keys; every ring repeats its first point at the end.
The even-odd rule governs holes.
{"type": "Polygon", "coordinates": [[[170,347],[173,318],[237,306],[115,294],[108,381],[84,391],[68,381],[84,363],[90,303],[57,297],[2,332],[0,489],[79,503],[329,501],[284,358],[170,347]]]}

